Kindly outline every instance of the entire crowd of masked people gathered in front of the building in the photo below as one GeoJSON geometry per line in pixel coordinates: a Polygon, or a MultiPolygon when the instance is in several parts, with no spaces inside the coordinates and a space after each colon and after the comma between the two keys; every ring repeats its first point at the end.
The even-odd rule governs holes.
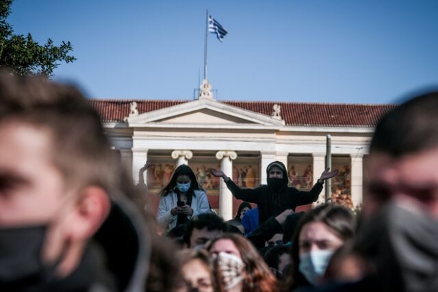
{"type": "Polygon", "coordinates": [[[378,122],[359,217],[296,212],[338,171],[299,191],[279,161],[257,187],[211,169],[244,201],[229,221],[180,165],[155,215],[150,164],[134,186],[77,88],[2,71],[0,291],[438,291],[437,113],[426,93],[378,122]]]}

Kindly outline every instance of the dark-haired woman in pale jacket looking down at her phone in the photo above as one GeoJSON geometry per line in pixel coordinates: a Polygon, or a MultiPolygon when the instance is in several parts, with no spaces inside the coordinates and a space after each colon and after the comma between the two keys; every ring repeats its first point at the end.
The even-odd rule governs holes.
{"type": "Polygon", "coordinates": [[[157,219],[167,225],[168,230],[196,215],[211,212],[205,191],[199,187],[192,169],[187,165],[175,169],[159,196],[157,219]]]}

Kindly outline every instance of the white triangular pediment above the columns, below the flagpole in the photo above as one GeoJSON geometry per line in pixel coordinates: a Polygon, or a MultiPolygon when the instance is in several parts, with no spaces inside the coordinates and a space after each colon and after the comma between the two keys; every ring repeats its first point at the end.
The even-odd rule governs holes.
{"type": "Polygon", "coordinates": [[[147,125],[227,125],[227,126],[281,126],[284,121],[274,119],[266,114],[244,110],[211,99],[198,99],[177,106],[144,112],[127,118],[131,127],[147,125]]]}

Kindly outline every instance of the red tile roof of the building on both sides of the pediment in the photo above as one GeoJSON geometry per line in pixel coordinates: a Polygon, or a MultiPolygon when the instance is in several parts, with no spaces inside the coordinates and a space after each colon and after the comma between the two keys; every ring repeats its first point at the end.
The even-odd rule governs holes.
{"type": "MultiPolygon", "coordinates": [[[[151,112],[161,108],[177,106],[192,100],[120,100],[120,99],[90,99],[90,103],[101,114],[102,121],[118,122],[129,114],[129,104],[136,101],[138,112],[151,112]]],[[[245,110],[252,110],[260,114],[272,114],[272,106],[281,106],[281,117],[286,125],[309,126],[348,126],[348,127],[374,127],[377,121],[389,110],[395,108],[394,104],[369,105],[369,104],[312,104],[298,102],[274,101],[221,101],[229,106],[236,106],[245,110]]]]}

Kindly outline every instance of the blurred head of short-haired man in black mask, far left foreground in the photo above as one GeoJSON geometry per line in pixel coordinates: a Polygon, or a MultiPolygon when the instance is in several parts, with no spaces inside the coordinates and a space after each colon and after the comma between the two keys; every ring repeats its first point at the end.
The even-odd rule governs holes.
{"type": "Polygon", "coordinates": [[[86,271],[118,173],[99,115],[75,87],[1,71],[1,287],[52,291],[86,271]]]}

